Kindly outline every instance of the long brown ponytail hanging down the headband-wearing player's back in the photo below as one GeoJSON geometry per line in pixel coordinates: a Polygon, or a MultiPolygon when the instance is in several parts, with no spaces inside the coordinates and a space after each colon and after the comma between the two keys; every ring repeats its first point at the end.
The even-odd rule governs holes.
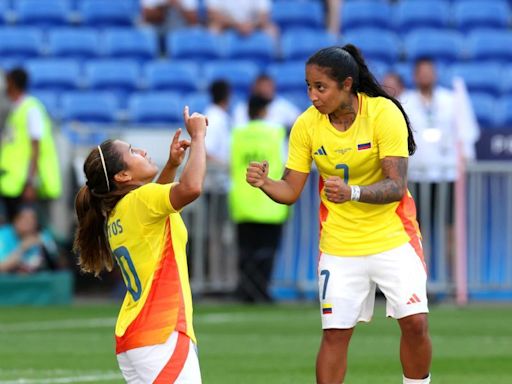
{"type": "Polygon", "coordinates": [[[101,201],[84,185],[75,199],[78,229],[73,250],[78,253],[78,265],[86,273],[98,276],[103,269],[111,271],[114,262],[107,239],[106,217],[101,201]]]}

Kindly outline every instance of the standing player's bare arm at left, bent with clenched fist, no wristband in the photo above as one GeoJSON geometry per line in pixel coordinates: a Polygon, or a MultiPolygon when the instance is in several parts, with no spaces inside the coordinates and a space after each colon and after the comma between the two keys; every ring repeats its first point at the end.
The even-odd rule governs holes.
{"type": "Polygon", "coordinates": [[[276,203],[291,205],[299,198],[308,173],[302,173],[285,168],[281,180],[268,177],[269,164],[251,162],[247,167],[246,180],[253,187],[260,188],[276,203]]]}

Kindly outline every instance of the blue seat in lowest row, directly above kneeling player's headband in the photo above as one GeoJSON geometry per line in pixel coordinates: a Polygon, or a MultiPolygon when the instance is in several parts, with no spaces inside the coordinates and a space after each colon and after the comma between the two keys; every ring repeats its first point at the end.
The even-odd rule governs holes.
{"type": "Polygon", "coordinates": [[[113,123],[119,102],[110,92],[68,92],[62,96],[62,119],[81,123],[113,123]]]}

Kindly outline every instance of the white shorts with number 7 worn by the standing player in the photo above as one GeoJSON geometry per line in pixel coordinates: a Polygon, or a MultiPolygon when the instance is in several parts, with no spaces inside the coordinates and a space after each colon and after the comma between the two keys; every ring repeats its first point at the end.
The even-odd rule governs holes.
{"type": "Polygon", "coordinates": [[[370,256],[325,253],[318,264],[323,329],[352,328],[373,316],[378,285],[386,296],[386,316],[428,313],[425,264],[409,244],[370,256]]]}

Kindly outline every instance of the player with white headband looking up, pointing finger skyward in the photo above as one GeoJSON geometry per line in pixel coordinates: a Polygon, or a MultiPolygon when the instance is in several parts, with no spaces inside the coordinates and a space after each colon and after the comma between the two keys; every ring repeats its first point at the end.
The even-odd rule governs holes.
{"type": "Polygon", "coordinates": [[[189,116],[191,140],[173,138],[158,168],[147,152],[107,140],[84,163],[87,183],[76,197],[75,249],[83,271],[98,275],[120,267],[127,293],[117,319],[119,367],[128,383],[201,383],[192,328],[187,273],[187,230],[179,211],[202,190],[206,172],[203,115],[189,116]],[[173,182],[185,151],[190,155],[173,182]]]}

